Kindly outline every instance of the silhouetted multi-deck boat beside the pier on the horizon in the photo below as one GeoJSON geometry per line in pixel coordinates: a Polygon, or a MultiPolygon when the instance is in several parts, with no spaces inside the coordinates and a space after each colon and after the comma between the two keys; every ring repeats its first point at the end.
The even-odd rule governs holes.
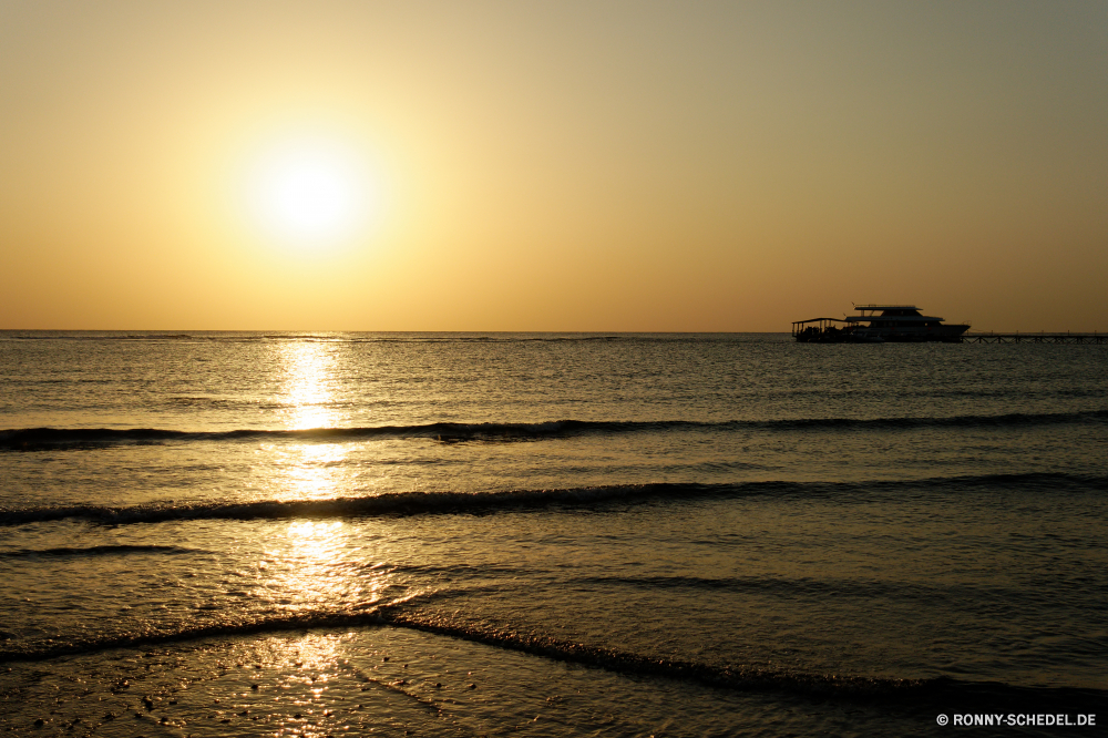
{"type": "Polygon", "coordinates": [[[967,322],[945,324],[914,305],[854,305],[854,309],[858,315],[843,318],[797,320],[792,336],[802,344],[961,344],[970,330],[967,322]]]}

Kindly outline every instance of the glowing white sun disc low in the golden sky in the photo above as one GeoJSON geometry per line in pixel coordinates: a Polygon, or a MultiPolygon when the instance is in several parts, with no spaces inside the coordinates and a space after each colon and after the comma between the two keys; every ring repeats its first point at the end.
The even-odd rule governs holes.
{"type": "Polygon", "coordinates": [[[380,195],[362,152],[322,137],[273,142],[246,176],[246,209],[268,240],[320,249],[365,235],[380,195]]]}

